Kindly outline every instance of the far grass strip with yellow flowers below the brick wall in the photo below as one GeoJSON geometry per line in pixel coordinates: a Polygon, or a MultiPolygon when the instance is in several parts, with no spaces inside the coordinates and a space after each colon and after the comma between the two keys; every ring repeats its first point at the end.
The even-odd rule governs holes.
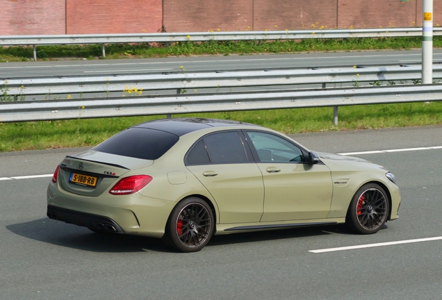
{"type": "MultiPolygon", "coordinates": [[[[348,38],[348,39],[304,39],[276,41],[237,41],[237,42],[173,42],[165,43],[108,44],[106,59],[156,58],[190,55],[229,55],[254,53],[295,53],[308,51],[354,51],[380,49],[420,48],[421,37],[398,38],[348,38]]],[[[434,36],[434,47],[442,47],[442,37],[434,36]]],[[[37,47],[40,60],[63,58],[88,60],[101,59],[101,45],[54,45],[37,47]]],[[[0,47],[0,62],[33,60],[32,47],[0,47]]]]}

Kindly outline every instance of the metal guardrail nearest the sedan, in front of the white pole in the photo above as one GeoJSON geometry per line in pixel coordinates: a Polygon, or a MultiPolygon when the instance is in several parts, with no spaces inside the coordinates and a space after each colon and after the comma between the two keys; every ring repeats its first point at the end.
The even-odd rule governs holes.
{"type": "Polygon", "coordinates": [[[0,103],[0,122],[442,101],[442,85],[0,103]]]}

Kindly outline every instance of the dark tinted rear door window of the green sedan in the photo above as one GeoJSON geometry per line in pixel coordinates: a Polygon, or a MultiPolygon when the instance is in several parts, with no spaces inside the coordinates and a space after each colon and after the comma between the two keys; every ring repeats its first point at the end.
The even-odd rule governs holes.
{"type": "Polygon", "coordinates": [[[215,133],[204,138],[211,163],[246,163],[243,142],[237,132],[215,133]]]}

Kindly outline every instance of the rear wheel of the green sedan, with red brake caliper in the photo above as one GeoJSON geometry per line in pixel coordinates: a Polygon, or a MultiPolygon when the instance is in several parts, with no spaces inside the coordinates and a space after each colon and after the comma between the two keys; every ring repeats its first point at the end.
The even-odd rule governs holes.
{"type": "Polygon", "coordinates": [[[202,199],[190,197],[172,211],[166,226],[166,242],[179,251],[196,252],[211,239],[214,226],[210,206],[202,199]]]}

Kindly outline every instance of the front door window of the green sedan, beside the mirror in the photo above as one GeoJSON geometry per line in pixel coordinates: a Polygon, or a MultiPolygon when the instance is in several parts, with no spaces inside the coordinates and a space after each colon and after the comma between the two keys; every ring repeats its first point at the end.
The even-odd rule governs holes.
{"type": "Polygon", "coordinates": [[[271,133],[248,131],[249,139],[252,142],[261,162],[303,162],[304,154],[295,144],[284,140],[271,133]]]}

